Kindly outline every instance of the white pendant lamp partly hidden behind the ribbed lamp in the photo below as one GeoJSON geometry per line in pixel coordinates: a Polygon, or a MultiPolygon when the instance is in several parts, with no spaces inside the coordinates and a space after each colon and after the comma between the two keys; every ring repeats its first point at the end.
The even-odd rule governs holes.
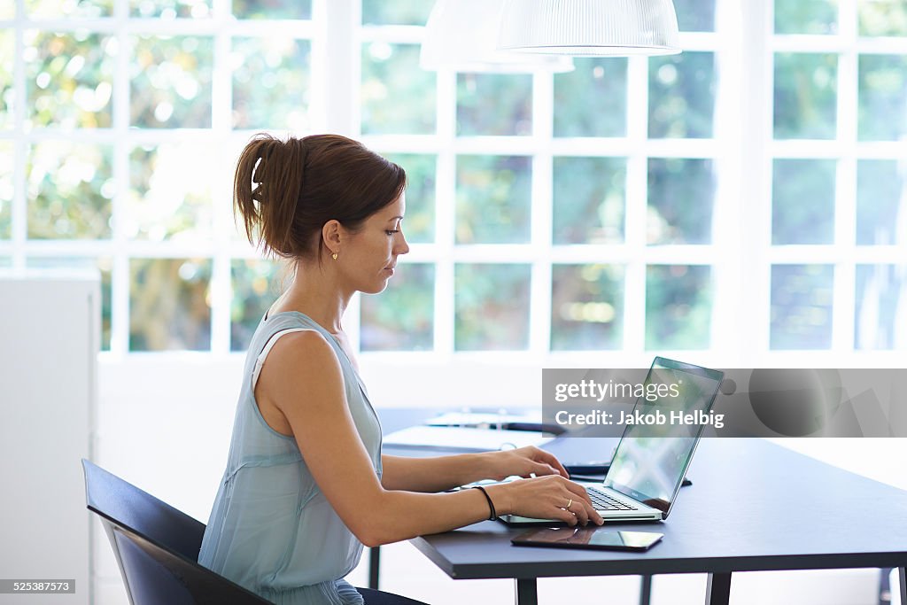
{"type": "Polygon", "coordinates": [[[498,50],[503,0],[437,0],[425,24],[419,65],[426,70],[570,72],[569,56],[498,50]]]}

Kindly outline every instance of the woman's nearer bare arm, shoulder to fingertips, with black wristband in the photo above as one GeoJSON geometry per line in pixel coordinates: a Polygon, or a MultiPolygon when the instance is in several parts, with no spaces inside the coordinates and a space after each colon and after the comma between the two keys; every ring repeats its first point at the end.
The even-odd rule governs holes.
{"type": "MultiPolygon", "coordinates": [[[[378,481],[346,405],[339,362],[320,334],[307,331],[281,337],[262,368],[256,397],[286,416],[321,492],[367,546],[488,518],[488,503],[479,490],[414,493],[389,490],[378,481]]],[[[600,522],[582,487],[560,476],[487,490],[499,514],[519,512],[571,524],[590,518],[600,522]],[[568,502],[569,512],[563,510],[568,502]]]]}

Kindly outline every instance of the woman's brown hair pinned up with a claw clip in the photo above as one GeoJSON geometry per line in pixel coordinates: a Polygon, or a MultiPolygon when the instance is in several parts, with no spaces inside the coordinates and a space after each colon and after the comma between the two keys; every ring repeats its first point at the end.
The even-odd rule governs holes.
{"type": "Polygon", "coordinates": [[[249,242],[266,253],[320,260],[328,220],[356,231],[405,187],[400,166],[358,141],[338,134],[280,141],[259,133],[239,155],[233,210],[249,242]]]}

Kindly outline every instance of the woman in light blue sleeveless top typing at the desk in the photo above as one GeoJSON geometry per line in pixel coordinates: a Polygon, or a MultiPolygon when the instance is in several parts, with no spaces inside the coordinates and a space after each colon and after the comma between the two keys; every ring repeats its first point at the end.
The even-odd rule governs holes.
{"type": "Polygon", "coordinates": [[[409,251],[404,190],[403,169],[336,135],[258,135],[239,158],[234,202],[249,240],[290,259],[295,276],[249,345],[199,562],[268,600],[363,602],[343,581],[363,544],[504,513],[602,522],[561,463],[535,447],[381,454],[381,427],[341,320],[350,298],[381,292],[409,251]],[[439,493],[514,474],[538,478],[439,493]]]}

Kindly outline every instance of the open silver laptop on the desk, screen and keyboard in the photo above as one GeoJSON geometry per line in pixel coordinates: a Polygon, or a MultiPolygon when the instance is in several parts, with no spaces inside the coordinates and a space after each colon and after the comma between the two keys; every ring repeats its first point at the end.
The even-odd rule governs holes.
{"type": "MultiPolygon", "coordinates": [[[[678,385],[676,396],[647,401],[640,396],[634,415],[670,413],[701,417],[715,403],[724,373],[656,357],[645,385],[678,385]]],[[[647,392],[649,392],[647,390],[647,392]]],[[[662,390],[661,392],[665,392],[662,390]]],[[[677,498],[705,424],[626,424],[608,474],[602,483],[577,482],[586,488],[596,510],[606,521],[662,521],[677,498]]],[[[581,437],[577,437],[581,438],[581,437]]],[[[593,454],[590,459],[600,459],[593,454]]],[[[514,514],[500,517],[510,525],[550,524],[514,514]]]]}

